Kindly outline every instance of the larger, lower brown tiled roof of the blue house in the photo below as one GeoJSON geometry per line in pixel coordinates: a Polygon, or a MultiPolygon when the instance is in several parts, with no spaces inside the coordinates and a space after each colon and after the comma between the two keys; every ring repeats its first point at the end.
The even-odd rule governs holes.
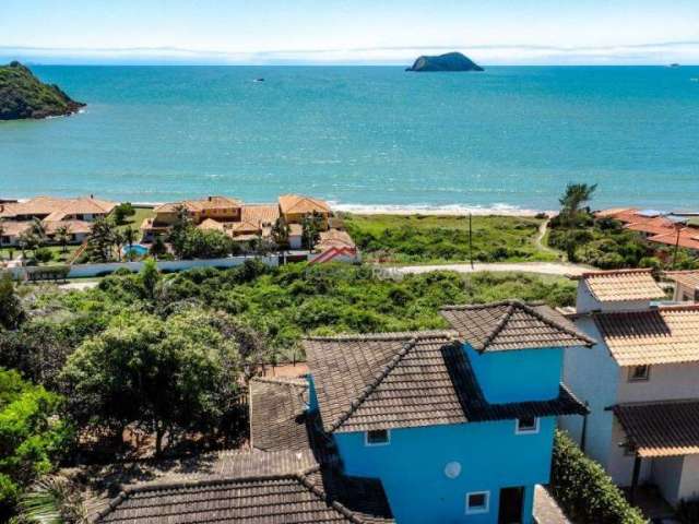
{"type": "Polygon", "coordinates": [[[453,332],[304,341],[327,432],[564,415],[584,409],[561,390],[545,402],[488,404],[453,332]]]}

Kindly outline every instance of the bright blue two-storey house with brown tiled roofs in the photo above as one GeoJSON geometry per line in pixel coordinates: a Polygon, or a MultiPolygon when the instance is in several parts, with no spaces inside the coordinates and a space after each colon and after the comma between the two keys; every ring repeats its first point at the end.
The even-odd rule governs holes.
{"type": "Polygon", "coordinates": [[[560,383],[564,349],[594,341],[546,306],[441,313],[453,331],[306,340],[308,414],[399,524],[531,523],[556,417],[585,413],[560,383]]]}

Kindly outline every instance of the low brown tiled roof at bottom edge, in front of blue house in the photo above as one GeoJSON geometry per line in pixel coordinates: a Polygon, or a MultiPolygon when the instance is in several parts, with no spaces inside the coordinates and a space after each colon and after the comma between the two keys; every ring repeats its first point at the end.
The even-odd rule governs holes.
{"type": "Polygon", "coordinates": [[[128,486],[96,523],[387,523],[378,480],[322,468],[310,452],[228,455],[213,474],[163,477],[128,486]]]}

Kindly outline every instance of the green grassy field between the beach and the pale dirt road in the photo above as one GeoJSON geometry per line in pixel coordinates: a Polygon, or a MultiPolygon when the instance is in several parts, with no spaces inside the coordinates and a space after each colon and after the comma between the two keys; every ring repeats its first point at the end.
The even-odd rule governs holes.
{"type": "MultiPolygon", "coordinates": [[[[469,217],[436,215],[346,215],[348,233],[365,259],[387,263],[467,261],[469,217]]],[[[473,217],[473,260],[548,262],[558,260],[536,245],[542,219],[473,217]]]]}

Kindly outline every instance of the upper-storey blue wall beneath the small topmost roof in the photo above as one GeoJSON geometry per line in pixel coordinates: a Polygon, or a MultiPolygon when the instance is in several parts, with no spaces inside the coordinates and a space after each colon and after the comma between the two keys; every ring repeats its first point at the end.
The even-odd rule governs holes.
{"type": "Polygon", "coordinates": [[[488,402],[546,401],[558,396],[561,348],[478,353],[464,345],[488,402]]]}

